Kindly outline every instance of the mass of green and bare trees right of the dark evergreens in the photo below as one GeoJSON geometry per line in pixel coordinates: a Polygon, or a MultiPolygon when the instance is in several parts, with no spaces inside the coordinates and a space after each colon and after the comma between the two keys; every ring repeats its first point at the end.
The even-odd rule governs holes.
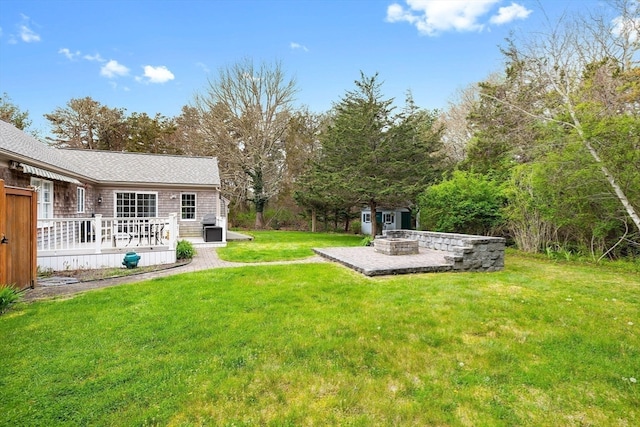
{"type": "Polygon", "coordinates": [[[430,225],[450,197],[523,250],[640,254],[640,3],[609,6],[510,37],[504,71],[460,94],[458,173],[425,195],[430,225]]]}

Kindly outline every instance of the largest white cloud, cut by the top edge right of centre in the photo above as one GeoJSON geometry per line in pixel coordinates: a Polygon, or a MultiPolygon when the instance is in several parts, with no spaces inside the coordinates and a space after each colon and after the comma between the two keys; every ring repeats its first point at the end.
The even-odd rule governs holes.
{"type": "MultiPolygon", "coordinates": [[[[436,36],[447,31],[482,31],[486,16],[501,0],[405,0],[406,7],[393,3],[387,8],[386,21],[408,22],[420,34],[436,36]]],[[[517,4],[501,7],[489,23],[502,25],[515,19],[525,19],[530,10],[517,4]]]]}

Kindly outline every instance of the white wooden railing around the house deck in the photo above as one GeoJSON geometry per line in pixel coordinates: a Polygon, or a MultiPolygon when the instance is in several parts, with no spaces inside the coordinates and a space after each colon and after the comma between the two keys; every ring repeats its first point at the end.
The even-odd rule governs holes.
{"type": "Polygon", "coordinates": [[[38,252],[86,251],[115,248],[175,248],[177,216],[167,218],[47,218],[38,220],[38,252]]]}

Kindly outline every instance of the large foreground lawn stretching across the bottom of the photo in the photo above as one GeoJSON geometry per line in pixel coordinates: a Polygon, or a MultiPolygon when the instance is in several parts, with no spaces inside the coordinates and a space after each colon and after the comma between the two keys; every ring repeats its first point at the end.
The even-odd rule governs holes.
{"type": "Polygon", "coordinates": [[[640,425],[640,276],[218,269],[0,316],[0,425],[640,425]]]}

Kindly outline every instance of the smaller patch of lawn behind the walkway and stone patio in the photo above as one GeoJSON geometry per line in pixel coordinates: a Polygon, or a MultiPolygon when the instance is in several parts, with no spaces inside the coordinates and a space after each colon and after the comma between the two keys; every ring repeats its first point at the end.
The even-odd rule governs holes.
{"type": "Polygon", "coordinates": [[[228,242],[218,249],[218,256],[225,261],[269,262],[287,261],[314,255],[312,248],[328,246],[359,246],[362,236],[354,234],[305,233],[300,231],[251,231],[242,232],[254,238],[252,241],[228,242]]]}

